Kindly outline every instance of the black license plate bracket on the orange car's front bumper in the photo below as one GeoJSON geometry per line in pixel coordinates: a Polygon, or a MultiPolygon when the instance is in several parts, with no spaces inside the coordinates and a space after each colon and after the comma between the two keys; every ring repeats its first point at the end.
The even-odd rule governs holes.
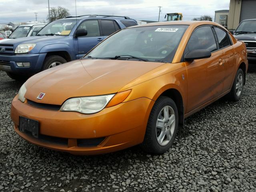
{"type": "Polygon", "coordinates": [[[20,132],[29,132],[32,134],[33,137],[38,138],[39,122],[37,120],[20,116],[19,130],[20,132]]]}

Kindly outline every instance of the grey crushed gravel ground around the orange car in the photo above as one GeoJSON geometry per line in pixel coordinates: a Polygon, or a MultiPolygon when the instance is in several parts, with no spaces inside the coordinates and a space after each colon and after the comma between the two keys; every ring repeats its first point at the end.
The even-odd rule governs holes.
{"type": "Polygon", "coordinates": [[[73,156],[14,133],[10,104],[22,83],[0,72],[0,191],[256,192],[256,64],[239,102],[224,98],[185,120],[163,155],[138,146],[73,156]]]}

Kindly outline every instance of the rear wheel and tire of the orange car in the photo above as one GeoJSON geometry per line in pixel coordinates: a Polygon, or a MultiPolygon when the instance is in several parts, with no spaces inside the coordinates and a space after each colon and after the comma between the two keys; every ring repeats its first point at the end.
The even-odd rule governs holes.
{"type": "Polygon", "coordinates": [[[236,77],[234,79],[232,88],[228,93],[228,99],[232,101],[240,100],[244,87],[244,72],[242,69],[238,69],[236,72],[236,77]]]}

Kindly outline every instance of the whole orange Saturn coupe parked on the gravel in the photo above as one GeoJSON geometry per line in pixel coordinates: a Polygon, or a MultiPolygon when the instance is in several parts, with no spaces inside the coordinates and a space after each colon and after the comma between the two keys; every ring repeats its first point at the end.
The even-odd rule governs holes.
{"type": "Polygon", "coordinates": [[[247,68],[245,44],[214,22],[133,26],[28,79],[11,118],[22,138],[53,150],[93,155],[140,144],[161,154],[184,118],[226,94],[238,101],[247,68]]]}

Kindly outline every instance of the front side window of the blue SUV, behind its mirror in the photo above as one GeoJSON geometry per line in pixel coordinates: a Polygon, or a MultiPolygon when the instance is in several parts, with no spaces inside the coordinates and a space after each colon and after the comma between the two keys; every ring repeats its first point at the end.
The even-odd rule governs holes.
{"type": "Polygon", "coordinates": [[[100,27],[98,20],[84,21],[78,29],[86,29],[87,35],[82,37],[98,37],[100,36],[100,27]]]}

